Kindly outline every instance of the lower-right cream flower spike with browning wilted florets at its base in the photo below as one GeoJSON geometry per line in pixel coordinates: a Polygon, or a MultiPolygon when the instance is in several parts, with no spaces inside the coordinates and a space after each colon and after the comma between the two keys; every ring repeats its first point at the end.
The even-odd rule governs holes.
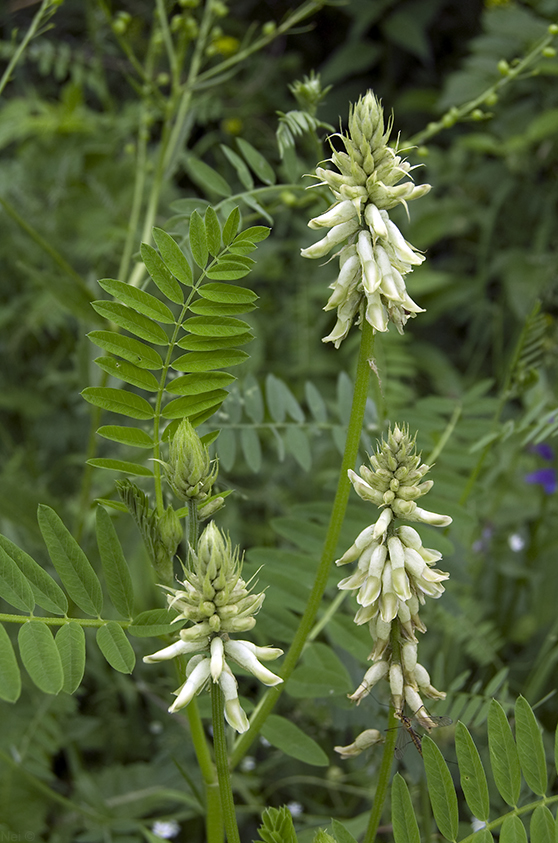
{"type": "MultiPolygon", "coordinates": [[[[427,670],[417,661],[415,632],[426,631],[420,606],[426,597],[440,597],[449,574],[434,568],[441,553],[423,547],[418,532],[399,525],[398,520],[446,527],[451,518],[416,503],[431,489],[432,481],[423,480],[430,466],[421,464],[407,429],[396,425],[390,430],[387,441],[370,457],[370,465],[361,466],[360,476],[349,471],[349,478],[356,493],[382,511],[336,563],[358,560],[357,570],[341,580],[339,588],[356,594],[355,623],[367,623],[374,641],[372,666],[350,699],[359,703],[377,682],[386,679],[396,713],[402,714],[407,705],[419,723],[430,729],[435,724],[422,698],[443,699],[445,693],[432,686],[427,670]]],[[[375,738],[375,730],[367,730],[349,747],[336,750],[343,757],[358,754],[376,742],[370,738],[372,733],[375,738]]]]}

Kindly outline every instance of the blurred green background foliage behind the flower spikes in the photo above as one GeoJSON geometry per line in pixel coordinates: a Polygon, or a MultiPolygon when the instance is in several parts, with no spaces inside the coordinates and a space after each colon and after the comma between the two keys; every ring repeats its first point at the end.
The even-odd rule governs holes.
{"type": "MultiPolygon", "coordinates": [[[[195,4],[166,6],[185,31],[199,18],[195,4]]],[[[206,67],[234,55],[251,26],[279,21],[287,7],[231,4],[206,67]]],[[[13,2],[0,12],[6,61],[35,11],[13,2]]],[[[143,61],[151,4],[66,0],[29,45],[0,100],[0,528],[47,570],[37,505],[54,507],[97,565],[93,501],[115,497],[113,475],[84,469],[87,458],[115,456],[92,437],[98,422],[79,394],[99,385],[86,334],[107,328],[90,302],[102,296],[97,279],[120,277],[138,123],[145,119],[149,133],[148,188],[169,92],[157,49],[153,87],[142,89],[113,28],[122,12],[131,15],[126,43],[143,61]]],[[[253,198],[240,202],[245,226],[273,223],[250,280],[258,309],[243,316],[256,337],[250,360],[203,428],[221,429],[221,480],[236,490],[222,525],[248,549],[247,573],[264,564],[262,643],[288,644],[304,605],[301,589],[312,581],[358,342],[353,336],[339,352],[320,342],[329,331],[321,308],[331,279],[326,267],[302,261],[299,250],[312,239],[307,219],[325,206],[319,192],[301,189],[302,175],[325,153],[307,134],[296,140],[296,152],[280,158],[277,111],[297,107],[288,86],[320,72],[332,89],[318,118],[333,126],[346,119],[348,102],[372,87],[386,111],[393,108],[404,145],[497,81],[498,61],[523,55],[556,20],[556,0],[350,0],[324,7],[219,85],[195,91],[184,154],[164,181],[155,222],[181,237],[194,207],[203,214],[208,202],[224,201],[218,182],[207,187],[203,161],[235,194],[260,191],[256,207],[253,198]],[[250,165],[239,139],[269,169],[259,158],[250,165]],[[280,187],[273,189],[276,180],[280,187]]],[[[425,530],[424,539],[444,553],[452,578],[430,609],[421,660],[434,684],[449,691],[438,713],[461,718],[484,756],[492,696],[508,712],[519,693],[536,706],[547,753],[556,725],[558,61],[545,58],[537,71],[506,88],[489,119],[449,127],[410,153],[424,165],[417,180],[434,186],[412,208],[410,222],[398,220],[409,240],[427,250],[409,283],[426,313],[404,337],[378,337],[383,396],[369,402],[363,441],[373,443],[387,421],[407,421],[419,431],[426,461],[434,453],[429,504],[454,524],[442,537],[425,530]]],[[[134,254],[140,240],[138,228],[134,254]]],[[[368,522],[366,507],[351,499],[340,550],[368,522]]],[[[131,519],[119,518],[117,529],[136,611],[162,605],[131,519]]],[[[337,579],[334,572],[324,611],[337,579]]],[[[355,835],[364,828],[376,757],[372,751],[340,762],[333,746],[362,728],[383,728],[385,700],[369,697],[356,709],[346,699],[369,648],[346,602],[308,646],[276,711],[314,739],[322,755],[309,765],[283,754],[274,747],[270,719],[266,740],[234,773],[243,839],[255,837],[265,805],[285,803],[302,841],[332,815],[355,835]]],[[[137,656],[152,644],[133,641],[137,656]]],[[[20,702],[1,703],[0,829],[52,841],[124,843],[149,839],[155,818],[163,818],[180,823],[176,839],[201,841],[200,782],[184,721],[165,711],[174,679],[140,659],[132,676],[116,672],[89,640],[87,649],[76,696],[44,694],[22,671],[20,702]]],[[[247,699],[247,710],[251,704],[247,699]]],[[[439,742],[451,758],[451,730],[439,742]]],[[[411,750],[402,772],[420,799],[422,765],[411,750]]],[[[496,790],[490,799],[499,809],[496,790]]]]}

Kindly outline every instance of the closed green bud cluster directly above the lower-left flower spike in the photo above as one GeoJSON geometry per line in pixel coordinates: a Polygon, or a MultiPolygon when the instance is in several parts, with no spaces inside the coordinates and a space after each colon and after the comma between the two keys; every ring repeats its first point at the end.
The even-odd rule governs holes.
{"type": "Polygon", "coordinates": [[[192,427],[188,419],[183,419],[174,434],[169,461],[163,463],[167,483],[177,498],[182,501],[207,498],[217,474],[217,461],[209,459],[207,446],[192,427]]]}

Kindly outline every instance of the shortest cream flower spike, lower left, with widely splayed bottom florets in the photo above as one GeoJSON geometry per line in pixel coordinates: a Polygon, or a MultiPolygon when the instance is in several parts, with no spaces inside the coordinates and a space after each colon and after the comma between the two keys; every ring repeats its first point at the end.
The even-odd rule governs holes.
{"type": "Polygon", "coordinates": [[[165,588],[169,608],[178,610],[176,622],[190,621],[180,630],[179,640],[163,650],[145,656],[145,662],[158,662],[176,656],[191,656],[186,681],[176,691],[169,708],[175,712],[199,694],[210,681],[217,682],[225,698],[225,719],[237,732],[245,732],[248,718],[238,699],[238,683],[227,657],[248,670],[264,685],[283,680],[264,667],[282,654],[276,647],[257,647],[251,641],[230,638],[231,633],[247,632],[256,624],[264,594],[254,594],[242,579],[238,550],[211,521],[202,533],[197,552],[191,552],[190,568],[184,571],[182,588],[165,588]],[[260,661],[261,660],[261,661],[260,661]]]}

